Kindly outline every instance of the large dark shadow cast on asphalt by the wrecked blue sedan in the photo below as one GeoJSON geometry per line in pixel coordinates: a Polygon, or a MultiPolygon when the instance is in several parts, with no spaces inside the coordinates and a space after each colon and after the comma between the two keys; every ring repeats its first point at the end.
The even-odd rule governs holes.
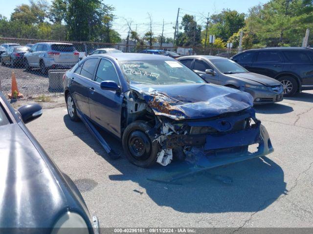
{"type": "MultiPolygon", "coordinates": [[[[111,180],[137,183],[159,206],[168,206],[184,213],[256,212],[267,208],[286,193],[283,170],[267,157],[225,165],[186,177],[179,180],[180,185],[150,181],[147,178],[166,176],[173,168],[179,168],[180,163],[173,161],[166,167],[156,164],[149,169],[138,168],[123,156],[121,142],[101,131],[112,149],[121,155],[120,159],[112,160],[82,122],[72,122],[68,115],[64,117],[64,122],[74,135],[120,172],[119,175],[109,175],[111,180]],[[233,182],[223,183],[215,179],[216,176],[227,176],[233,182]]],[[[140,196],[142,191],[136,188],[133,191],[140,196]]]]}

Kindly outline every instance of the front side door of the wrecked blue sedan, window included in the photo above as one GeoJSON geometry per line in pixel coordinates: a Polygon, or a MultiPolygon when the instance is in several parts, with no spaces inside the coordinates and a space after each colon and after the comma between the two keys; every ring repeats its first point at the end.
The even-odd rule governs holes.
{"type": "Polygon", "coordinates": [[[112,80],[120,86],[114,64],[101,59],[94,80],[89,89],[91,119],[117,137],[121,135],[121,111],[124,94],[118,91],[102,90],[101,81],[112,80]]]}

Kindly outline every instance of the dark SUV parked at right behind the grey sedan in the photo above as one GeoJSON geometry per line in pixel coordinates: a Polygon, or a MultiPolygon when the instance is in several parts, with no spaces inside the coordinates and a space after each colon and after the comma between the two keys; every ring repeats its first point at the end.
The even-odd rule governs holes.
{"type": "Polygon", "coordinates": [[[273,47],[252,49],[232,58],[248,71],[282,82],[284,96],[302,90],[313,90],[313,49],[304,47],[273,47]]]}

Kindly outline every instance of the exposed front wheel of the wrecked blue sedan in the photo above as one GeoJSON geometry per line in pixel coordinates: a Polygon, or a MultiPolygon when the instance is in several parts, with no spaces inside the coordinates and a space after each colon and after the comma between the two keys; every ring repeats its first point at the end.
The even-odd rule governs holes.
{"type": "Polygon", "coordinates": [[[151,130],[144,121],[134,121],[128,125],[122,137],[126,158],[138,167],[147,168],[156,162],[158,142],[152,142],[146,134],[151,130]]]}

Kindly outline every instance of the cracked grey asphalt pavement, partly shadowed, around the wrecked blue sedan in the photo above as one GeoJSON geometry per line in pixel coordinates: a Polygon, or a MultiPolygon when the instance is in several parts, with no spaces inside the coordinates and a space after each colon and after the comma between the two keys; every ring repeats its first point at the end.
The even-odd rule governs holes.
{"type": "Polygon", "coordinates": [[[107,135],[122,155],[110,159],[82,122],[69,120],[65,105],[45,109],[27,126],[75,182],[102,227],[313,227],[313,91],[256,110],[274,153],[182,179],[180,185],[147,180],[165,175],[166,168],[133,166],[119,141],[107,135]]]}

